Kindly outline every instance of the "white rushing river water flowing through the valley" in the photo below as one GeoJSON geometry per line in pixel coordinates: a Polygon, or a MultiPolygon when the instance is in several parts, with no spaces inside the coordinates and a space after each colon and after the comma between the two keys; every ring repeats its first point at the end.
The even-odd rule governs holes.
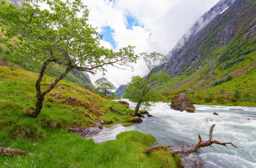
{"type": "MultiPolygon", "coordinates": [[[[129,103],[130,108],[134,109],[136,103],[129,103]]],[[[157,140],[154,145],[191,147],[199,142],[198,134],[203,141],[208,140],[210,127],[216,124],[213,139],[232,142],[238,148],[228,145],[233,149],[230,150],[213,144],[213,147],[200,148],[200,153],[190,154],[187,159],[203,160],[207,168],[256,168],[256,107],[195,105],[195,113],[187,113],[175,111],[167,103],[159,102],[148,112],[154,117],[142,118],[142,123],[131,127],[115,125],[104,128],[92,138],[96,143],[102,143],[115,140],[120,132],[138,130],[153,135],[157,140]],[[213,112],[219,115],[212,115],[213,112]]]]}

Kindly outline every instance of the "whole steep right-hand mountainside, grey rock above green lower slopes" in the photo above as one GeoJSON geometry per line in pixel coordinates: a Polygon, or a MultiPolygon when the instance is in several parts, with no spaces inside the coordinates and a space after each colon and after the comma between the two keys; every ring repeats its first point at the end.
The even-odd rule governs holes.
{"type": "Polygon", "coordinates": [[[221,0],[200,20],[170,51],[170,60],[158,67],[158,71],[167,71],[173,78],[155,89],[169,96],[189,91],[195,97],[200,94],[205,97],[216,88],[224,89],[226,96],[232,95],[235,89],[255,94],[256,1],[221,0]],[[208,13],[213,15],[216,13],[213,11],[217,14],[207,23],[208,13]],[[207,24],[202,28],[199,23],[207,24]],[[223,79],[227,74],[233,76],[229,83],[221,80],[213,87],[212,81],[223,79]],[[237,81],[239,77],[242,80],[237,81]],[[241,84],[243,82],[246,84],[241,84]]]}

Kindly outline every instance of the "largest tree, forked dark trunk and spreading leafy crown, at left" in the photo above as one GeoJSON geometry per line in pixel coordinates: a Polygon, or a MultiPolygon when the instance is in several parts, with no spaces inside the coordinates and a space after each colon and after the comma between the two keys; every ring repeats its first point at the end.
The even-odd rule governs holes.
{"type": "Polygon", "coordinates": [[[88,15],[81,0],[28,0],[22,7],[1,2],[2,42],[8,46],[8,52],[16,61],[41,64],[32,117],[41,111],[44,96],[72,69],[95,74],[97,70],[106,71],[106,65],[120,68],[136,62],[138,56],[133,46],[118,51],[100,46],[102,35],[88,23],[88,15]],[[50,10],[42,10],[40,3],[47,4],[50,10]],[[44,71],[52,64],[63,66],[65,71],[41,91],[44,71]]]}

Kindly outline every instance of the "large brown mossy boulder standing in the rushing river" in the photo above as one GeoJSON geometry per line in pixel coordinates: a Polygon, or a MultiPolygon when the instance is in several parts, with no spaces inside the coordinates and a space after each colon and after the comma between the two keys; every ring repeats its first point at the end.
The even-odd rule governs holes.
{"type": "Polygon", "coordinates": [[[170,105],[172,109],[179,111],[195,112],[195,106],[192,104],[191,100],[185,93],[178,94],[172,98],[172,104],[170,105]]]}

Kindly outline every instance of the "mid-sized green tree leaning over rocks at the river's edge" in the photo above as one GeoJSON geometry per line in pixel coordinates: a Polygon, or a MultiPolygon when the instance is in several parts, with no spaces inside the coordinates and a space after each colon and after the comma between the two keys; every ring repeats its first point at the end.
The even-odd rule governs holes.
{"type": "Polygon", "coordinates": [[[133,76],[128,87],[125,89],[124,97],[132,101],[138,102],[134,110],[133,116],[137,115],[139,107],[144,108],[154,105],[155,102],[162,98],[159,92],[152,89],[156,84],[168,81],[171,76],[168,73],[156,73],[156,67],[168,61],[166,56],[161,53],[141,53],[141,58],[146,63],[149,73],[145,77],[133,76]]]}

